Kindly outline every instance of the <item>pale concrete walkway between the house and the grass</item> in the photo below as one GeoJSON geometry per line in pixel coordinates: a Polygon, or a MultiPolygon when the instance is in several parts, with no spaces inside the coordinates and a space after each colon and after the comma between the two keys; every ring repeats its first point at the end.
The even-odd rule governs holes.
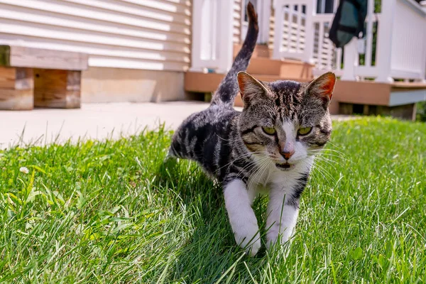
{"type": "MultiPolygon", "coordinates": [[[[81,109],[0,111],[0,148],[16,144],[44,145],[80,138],[120,138],[155,129],[160,123],[175,129],[204,102],[83,104],[81,109]]],[[[238,108],[237,108],[238,109],[238,108]]]]}

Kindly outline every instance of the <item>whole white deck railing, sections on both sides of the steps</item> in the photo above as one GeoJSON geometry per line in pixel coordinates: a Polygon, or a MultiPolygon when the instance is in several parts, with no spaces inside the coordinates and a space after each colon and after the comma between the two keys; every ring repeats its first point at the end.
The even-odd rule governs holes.
{"type": "MultiPolygon", "coordinates": [[[[273,58],[311,62],[314,75],[334,71],[342,80],[425,82],[426,11],[414,0],[382,0],[381,13],[375,13],[374,0],[368,0],[366,35],[345,45],[344,58],[328,38],[334,14],[316,13],[316,2],[273,1],[273,58]]],[[[232,63],[233,1],[192,3],[191,70],[226,72],[232,63]]]]}

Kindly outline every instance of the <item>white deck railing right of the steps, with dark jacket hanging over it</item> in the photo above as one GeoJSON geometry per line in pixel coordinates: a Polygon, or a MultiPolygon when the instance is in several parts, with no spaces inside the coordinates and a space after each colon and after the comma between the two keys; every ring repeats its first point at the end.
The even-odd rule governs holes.
{"type": "Polygon", "coordinates": [[[334,14],[315,13],[316,2],[275,0],[275,59],[295,58],[312,62],[315,64],[314,75],[333,70],[342,76],[342,80],[373,78],[377,82],[393,82],[395,78],[425,81],[426,12],[415,1],[381,1],[381,13],[374,13],[374,0],[368,0],[366,36],[362,40],[354,38],[345,45],[343,69],[342,50],[334,48],[328,39],[334,14]],[[302,13],[302,6],[305,6],[305,13],[302,13]],[[376,34],[375,24],[378,27],[376,34]],[[373,50],[374,38],[376,50],[373,50]],[[361,65],[360,50],[364,50],[361,65]]]}

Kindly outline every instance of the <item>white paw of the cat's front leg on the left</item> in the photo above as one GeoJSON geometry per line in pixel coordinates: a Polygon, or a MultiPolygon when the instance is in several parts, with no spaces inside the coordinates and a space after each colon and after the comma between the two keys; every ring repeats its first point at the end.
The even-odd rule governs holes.
{"type": "Polygon", "coordinates": [[[236,244],[239,244],[250,256],[256,256],[261,249],[261,235],[258,233],[257,224],[245,224],[234,232],[234,237],[236,244]]]}

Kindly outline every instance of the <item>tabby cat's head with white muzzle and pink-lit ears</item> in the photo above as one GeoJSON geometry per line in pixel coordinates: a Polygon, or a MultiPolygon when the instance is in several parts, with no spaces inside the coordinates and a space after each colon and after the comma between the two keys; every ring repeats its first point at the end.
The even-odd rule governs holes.
{"type": "Polygon", "coordinates": [[[239,72],[238,83],[244,101],[239,133],[249,151],[271,159],[280,170],[291,170],[329,141],[328,106],[336,83],[332,72],[309,84],[259,82],[239,72]]]}

